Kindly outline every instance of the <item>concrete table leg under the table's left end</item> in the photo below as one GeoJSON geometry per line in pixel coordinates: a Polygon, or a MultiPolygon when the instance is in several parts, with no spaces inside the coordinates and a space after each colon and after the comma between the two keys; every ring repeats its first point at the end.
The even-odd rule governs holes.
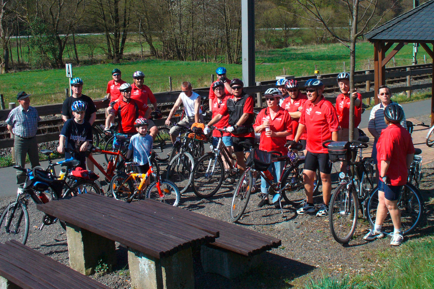
{"type": "Polygon", "coordinates": [[[69,266],[84,274],[91,275],[101,262],[107,265],[116,263],[115,241],[99,236],[88,230],[66,223],[68,237],[69,266]]]}

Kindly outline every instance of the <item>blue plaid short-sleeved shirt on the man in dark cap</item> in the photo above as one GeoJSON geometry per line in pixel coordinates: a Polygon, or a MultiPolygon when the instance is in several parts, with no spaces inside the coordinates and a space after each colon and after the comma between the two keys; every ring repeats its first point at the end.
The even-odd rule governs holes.
{"type": "Polygon", "coordinates": [[[29,106],[27,111],[19,105],[10,111],[6,123],[12,126],[14,135],[21,138],[33,138],[38,129],[38,111],[33,106],[29,106]]]}

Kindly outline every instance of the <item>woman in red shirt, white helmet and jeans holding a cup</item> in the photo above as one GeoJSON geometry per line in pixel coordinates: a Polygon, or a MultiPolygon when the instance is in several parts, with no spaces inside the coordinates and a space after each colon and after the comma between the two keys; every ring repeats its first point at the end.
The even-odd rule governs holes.
{"type": "MultiPolygon", "coordinates": [[[[253,125],[256,133],[261,133],[259,149],[263,151],[279,151],[283,155],[288,154],[285,147],[286,136],[291,133],[291,117],[289,113],[279,106],[279,100],[282,98],[282,92],[276,88],[267,89],[264,93],[267,107],[261,110],[256,117],[253,125]]],[[[277,182],[282,172],[282,162],[273,162],[268,171],[273,175],[274,181],[277,182]]],[[[261,193],[268,192],[269,185],[261,177],[261,193]]],[[[258,207],[263,207],[268,203],[268,199],[260,201],[258,207]]]]}

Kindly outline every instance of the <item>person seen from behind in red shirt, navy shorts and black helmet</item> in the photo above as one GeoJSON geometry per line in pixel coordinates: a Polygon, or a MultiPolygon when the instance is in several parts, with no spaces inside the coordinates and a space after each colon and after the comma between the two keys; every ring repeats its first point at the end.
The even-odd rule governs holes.
{"type": "Polygon", "coordinates": [[[387,128],[381,131],[377,142],[377,162],[380,179],[378,181],[378,207],[375,225],[363,239],[382,238],[381,227],[388,213],[392,219],[394,233],[390,244],[401,245],[404,239],[401,229],[401,212],[398,198],[402,186],[407,183],[408,169],[414,157],[411,135],[400,125],[404,118],[401,105],[391,103],[384,109],[387,128]]]}

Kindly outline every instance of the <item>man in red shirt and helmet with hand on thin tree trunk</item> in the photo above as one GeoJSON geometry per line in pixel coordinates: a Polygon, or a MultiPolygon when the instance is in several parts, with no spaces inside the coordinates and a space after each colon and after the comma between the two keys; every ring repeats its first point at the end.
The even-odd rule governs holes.
{"type": "MultiPolygon", "coordinates": [[[[338,85],[341,94],[336,98],[336,112],[338,113],[339,126],[341,130],[338,132],[339,141],[349,141],[349,111],[350,111],[350,75],[347,72],[338,74],[338,85]]],[[[351,96],[354,100],[354,128],[357,128],[362,120],[362,95],[353,92],[351,96]]],[[[355,130],[354,139],[358,137],[358,130],[355,130]]]]}

